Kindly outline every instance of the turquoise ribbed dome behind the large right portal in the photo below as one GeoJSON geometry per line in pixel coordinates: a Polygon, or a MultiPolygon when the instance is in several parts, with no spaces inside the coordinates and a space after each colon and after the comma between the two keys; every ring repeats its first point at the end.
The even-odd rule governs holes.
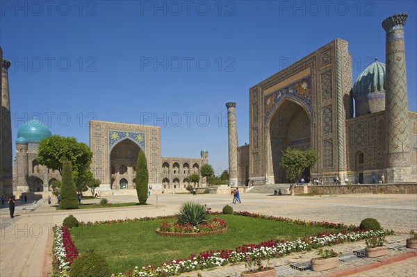
{"type": "Polygon", "coordinates": [[[353,85],[355,100],[373,92],[385,92],[385,64],[378,62],[376,58],[375,62],[363,70],[353,85]]]}

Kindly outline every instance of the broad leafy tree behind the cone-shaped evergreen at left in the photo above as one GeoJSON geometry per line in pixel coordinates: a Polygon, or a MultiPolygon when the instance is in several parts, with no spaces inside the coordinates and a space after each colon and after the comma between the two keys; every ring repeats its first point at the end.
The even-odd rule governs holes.
{"type": "Polygon", "coordinates": [[[75,137],[63,137],[51,135],[39,143],[38,162],[47,166],[49,169],[58,170],[63,175],[63,162],[69,160],[74,171],[74,181],[78,192],[84,190],[86,171],[91,165],[92,152],[87,144],[77,142],[75,137]]]}

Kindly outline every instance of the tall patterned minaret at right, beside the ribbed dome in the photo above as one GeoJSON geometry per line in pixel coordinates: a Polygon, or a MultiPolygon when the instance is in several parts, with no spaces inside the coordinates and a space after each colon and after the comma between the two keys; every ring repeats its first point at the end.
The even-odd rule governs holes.
{"type": "Polygon", "coordinates": [[[385,145],[386,183],[409,181],[411,176],[407,76],[405,69],[404,24],[400,13],[382,22],[386,31],[385,145]]]}

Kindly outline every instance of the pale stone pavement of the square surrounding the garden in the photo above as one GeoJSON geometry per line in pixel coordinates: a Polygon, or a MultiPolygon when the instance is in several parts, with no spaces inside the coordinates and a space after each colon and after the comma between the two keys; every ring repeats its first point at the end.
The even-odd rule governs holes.
{"type": "MultiPolygon", "coordinates": [[[[134,195],[106,196],[106,198],[111,203],[137,201],[137,197],[134,195]]],[[[63,219],[68,215],[74,215],[82,221],[124,219],[126,217],[156,217],[158,215],[172,215],[177,211],[181,203],[190,200],[207,204],[212,210],[222,210],[224,205],[231,203],[231,196],[227,194],[198,194],[196,196],[190,194],[159,194],[151,195],[148,200],[150,205],[147,206],[71,211],[56,211],[54,207],[47,203],[42,203],[43,201],[40,200],[38,204],[42,205],[39,208],[37,208],[37,204],[31,204],[33,208],[37,208],[33,212],[24,212],[24,205],[17,207],[14,219],[8,217],[8,208],[1,208],[0,276],[47,276],[51,272],[52,226],[54,224],[62,224],[63,219]]],[[[85,202],[92,201],[98,200],[85,202]]],[[[416,194],[349,194],[322,197],[243,194],[242,204],[233,204],[232,206],[235,210],[345,224],[359,224],[366,217],[374,217],[378,219],[384,228],[393,229],[400,233],[408,233],[410,229],[417,229],[416,194]]],[[[401,243],[403,243],[405,235],[395,236],[391,240],[402,240],[401,243]]],[[[364,242],[357,242],[357,244],[334,246],[334,249],[340,247],[344,251],[350,251],[359,246],[361,248],[364,246],[364,242]]],[[[395,256],[400,253],[400,250],[398,250],[398,253],[391,251],[389,255],[395,256]]],[[[271,262],[274,262],[274,265],[288,265],[289,262],[294,260],[309,260],[310,256],[313,255],[316,255],[316,253],[296,253],[271,262]]],[[[340,268],[356,267],[356,262],[365,262],[366,260],[368,259],[359,259],[349,265],[345,263],[340,268]]],[[[402,272],[395,265],[389,265],[389,269],[386,269],[386,272],[398,272],[395,276],[410,276],[409,273],[414,272],[402,272]]],[[[233,274],[243,271],[240,267],[243,267],[244,270],[243,265],[236,265],[234,267],[222,267],[212,271],[204,271],[202,276],[233,276],[233,274]]],[[[328,273],[327,271],[326,274],[328,273]]],[[[190,273],[184,276],[195,276],[197,273],[193,274],[190,273]]],[[[294,276],[304,275],[321,276],[323,274],[304,271],[297,272],[294,276]]]]}

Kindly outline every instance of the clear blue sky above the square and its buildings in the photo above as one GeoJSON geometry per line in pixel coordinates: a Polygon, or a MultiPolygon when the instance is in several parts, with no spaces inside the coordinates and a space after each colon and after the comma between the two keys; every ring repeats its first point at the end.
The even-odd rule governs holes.
{"type": "Polygon", "coordinates": [[[353,80],[385,62],[381,22],[407,12],[409,110],[417,111],[416,1],[0,1],[13,145],[38,116],[88,143],[88,120],[161,126],[162,156],[228,167],[227,113],[249,142],[248,90],[340,37],[353,80]]]}

